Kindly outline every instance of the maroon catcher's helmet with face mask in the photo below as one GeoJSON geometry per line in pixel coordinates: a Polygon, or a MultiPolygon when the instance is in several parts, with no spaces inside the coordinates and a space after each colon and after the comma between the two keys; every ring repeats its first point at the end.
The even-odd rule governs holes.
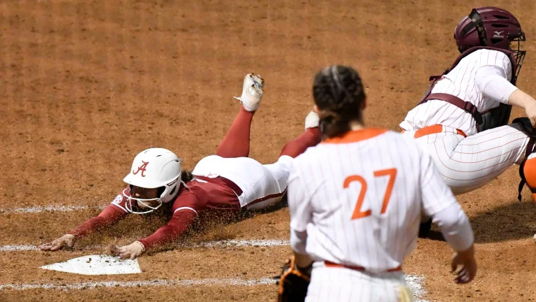
{"type": "Polygon", "coordinates": [[[519,49],[519,42],[525,41],[525,33],[519,21],[502,8],[486,6],[473,8],[467,17],[463,17],[454,29],[454,39],[458,50],[464,52],[469,48],[487,46],[510,50],[516,58],[516,75],[519,75],[526,51],[519,49]],[[517,42],[512,50],[510,43],[517,42]]]}

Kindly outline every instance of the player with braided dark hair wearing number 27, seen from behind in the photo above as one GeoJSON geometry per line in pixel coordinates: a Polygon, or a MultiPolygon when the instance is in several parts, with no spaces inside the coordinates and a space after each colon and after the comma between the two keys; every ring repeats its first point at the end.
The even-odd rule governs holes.
{"type": "Polygon", "coordinates": [[[288,180],[292,264],[312,268],[305,301],[411,301],[401,267],[422,213],[456,250],[456,282],[470,282],[472,229],[430,156],[401,134],[364,127],[354,69],[323,69],[313,96],[324,140],[293,161],[288,180]]]}

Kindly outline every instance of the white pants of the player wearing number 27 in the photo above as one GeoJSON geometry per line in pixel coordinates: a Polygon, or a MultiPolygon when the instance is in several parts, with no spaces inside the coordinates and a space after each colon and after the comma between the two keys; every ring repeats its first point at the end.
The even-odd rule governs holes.
{"type": "Polygon", "coordinates": [[[306,302],[327,301],[413,301],[404,273],[366,273],[348,268],[313,264],[306,302]]]}

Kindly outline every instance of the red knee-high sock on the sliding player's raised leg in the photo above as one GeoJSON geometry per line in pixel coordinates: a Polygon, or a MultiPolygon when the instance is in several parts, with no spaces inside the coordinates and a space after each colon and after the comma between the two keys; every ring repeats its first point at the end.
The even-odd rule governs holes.
{"type": "Polygon", "coordinates": [[[251,120],[255,111],[246,111],[244,107],[240,108],[240,112],[232,122],[232,125],[225,134],[225,138],[218,146],[216,155],[225,158],[248,157],[249,155],[249,129],[251,128],[251,120]]]}

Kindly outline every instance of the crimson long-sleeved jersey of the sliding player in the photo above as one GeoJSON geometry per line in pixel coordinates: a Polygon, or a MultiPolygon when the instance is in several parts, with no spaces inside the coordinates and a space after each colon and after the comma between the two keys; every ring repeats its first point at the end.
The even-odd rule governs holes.
{"type": "MultiPolygon", "coordinates": [[[[240,202],[237,194],[241,194],[240,189],[225,178],[206,178],[195,176],[195,178],[179,189],[177,197],[173,201],[171,210],[172,217],[165,226],[158,229],[154,234],[139,241],[146,249],[163,245],[181,236],[192,224],[196,217],[202,222],[207,217],[218,217],[228,213],[237,215],[240,212],[240,202]]],[[[97,231],[107,225],[121,220],[130,212],[126,208],[130,196],[130,189],[126,188],[118,194],[97,217],[91,218],[84,224],[70,231],[75,236],[83,236],[91,231],[97,231]]],[[[132,203],[133,210],[143,210],[137,207],[137,203],[132,203]]]]}

